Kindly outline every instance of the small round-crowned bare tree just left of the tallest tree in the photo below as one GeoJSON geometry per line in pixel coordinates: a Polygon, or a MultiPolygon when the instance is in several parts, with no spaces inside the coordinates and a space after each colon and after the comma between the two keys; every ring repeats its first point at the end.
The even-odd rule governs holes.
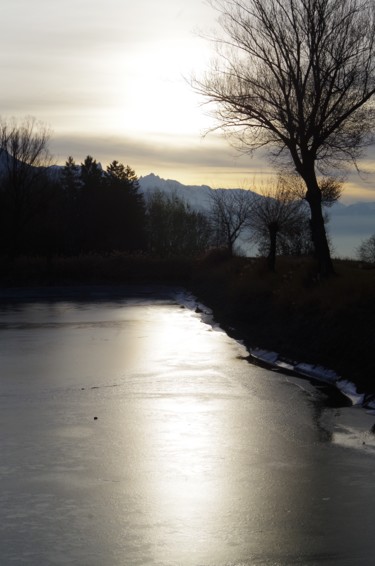
{"type": "Polygon", "coordinates": [[[309,218],[303,201],[296,197],[281,179],[262,190],[252,209],[249,227],[252,239],[268,248],[268,267],[275,271],[276,252],[280,240],[290,241],[305,237],[309,218]]]}

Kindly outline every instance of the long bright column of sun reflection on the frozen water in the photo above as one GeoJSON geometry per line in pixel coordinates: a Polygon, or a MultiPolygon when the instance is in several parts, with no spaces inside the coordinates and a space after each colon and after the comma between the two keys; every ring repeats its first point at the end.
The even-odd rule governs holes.
{"type": "Polygon", "coordinates": [[[207,550],[208,534],[211,542],[217,537],[226,499],[222,447],[228,432],[222,415],[231,379],[226,364],[228,345],[233,359],[241,346],[187,309],[159,307],[158,321],[148,356],[157,368],[147,423],[149,457],[157,467],[146,486],[146,512],[154,521],[150,543],[157,549],[161,541],[173,540],[169,554],[191,561],[192,553],[207,550]],[[205,535],[200,540],[197,533],[205,535]]]}

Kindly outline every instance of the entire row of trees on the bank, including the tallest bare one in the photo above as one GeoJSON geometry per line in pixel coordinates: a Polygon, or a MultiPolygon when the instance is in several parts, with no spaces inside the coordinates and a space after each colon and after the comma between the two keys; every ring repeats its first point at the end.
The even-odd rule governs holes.
{"type": "Polygon", "coordinates": [[[330,175],[348,162],[357,166],[374,141],[375,1],[211,3],[219,14],[218,56],[193,85],[214,104],[217,127],[241,151],[268,149],[281,170],[293,171],[286,183],[277,181],[277,194],[248,205],[228,193],[223,206],[217,192],[204,220],[173,198],[157,195],[146,203],[134,171],[117,161],[102,171],[88,156],[76,170],[69,159],[63,179],[53,179],[50,167],[41,167],[49,158],[48,132],[36,131],[33,121],[20,128],[3,123],[1,253],[167,254],[212,242],[232,252],[239,233],[250,229],[260,250],[267,247],[270,267],[278,248],[291,249],[293,235],[294,250],[312,242],[320,275],[334,273],[325,207],[334,202],[337,183],[330,175]],[[192,226],[199,234],[193,241],[192,226]]]}

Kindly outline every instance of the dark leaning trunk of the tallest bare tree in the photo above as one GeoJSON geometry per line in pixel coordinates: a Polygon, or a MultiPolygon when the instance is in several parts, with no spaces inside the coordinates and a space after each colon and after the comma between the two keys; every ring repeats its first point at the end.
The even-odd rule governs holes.
{"type": "Polygon", "coordinates": [[[322,195],[316,179],[316,174],[312,171],[302,175],[307,186],[306,200],[311,212],[311,235],[314,244],[316,258],[318,260],[318,270],[322,277],[334,275],[335,270],[331,259],[331,252],[328,245],[326,228],[322,211],[322,195]]]}

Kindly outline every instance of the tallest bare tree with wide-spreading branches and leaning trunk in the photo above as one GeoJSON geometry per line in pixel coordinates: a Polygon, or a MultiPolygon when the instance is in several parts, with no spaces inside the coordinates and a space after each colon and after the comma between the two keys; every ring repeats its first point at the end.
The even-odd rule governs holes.
{"type": "Polygon", "coordinates": [[[195,88],[245,151],[287,156],[306,185],[322,275],[333,273],[317,171],[372,142],[374,0],[211,0],[224,35],[195,88]]]}

